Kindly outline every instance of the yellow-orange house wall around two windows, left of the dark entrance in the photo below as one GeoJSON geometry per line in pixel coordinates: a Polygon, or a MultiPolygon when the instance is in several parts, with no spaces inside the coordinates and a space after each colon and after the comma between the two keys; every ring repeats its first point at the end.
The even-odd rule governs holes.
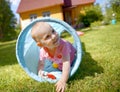
{"type": "Polygon", "coordinates": [[[37,18],[42,17],[43,12],[50,12],[50,17],[57,18],[60,20],[63,20],[63,10],[62,6],[54,6],[54,7],[48,7],[48,8],[43,8],[43,9],[37,9],[34,11],[29,11],[29,12],[24,12],[20,14],[20,23],[21,23],[21,29],[24,29],[30,22],[30,15],[31,14],[36,14],[37,18]]]}

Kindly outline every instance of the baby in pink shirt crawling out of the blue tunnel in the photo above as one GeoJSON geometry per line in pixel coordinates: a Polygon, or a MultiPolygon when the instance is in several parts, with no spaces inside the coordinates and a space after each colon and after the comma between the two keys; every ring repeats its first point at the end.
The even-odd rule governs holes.
{"type": "Polygon", "coordinates": [[[37,46],[41,48],[38,74],[43,76],[42,71],[45,67],[45,60],[49,59],[53,69],[62,71],[62,76],[55,86],[57,92],[64,92],[70,67],[74,61],[75,48],[69,42],[61,39],[47,22],[35,23],[31,30],[31,36],[36,41],[37,46]]]}

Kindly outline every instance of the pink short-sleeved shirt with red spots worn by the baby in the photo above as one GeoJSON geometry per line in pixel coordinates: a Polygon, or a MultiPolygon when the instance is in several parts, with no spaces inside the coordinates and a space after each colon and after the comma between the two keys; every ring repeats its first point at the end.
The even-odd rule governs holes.
{"type": "Polygon", "coordinates": [[[40,49],[40,60],[50,59],[58,64],[58,69],[62,70],[62,56],[70,54],[70,63],[74,60],[76,49],[71,43],[60,39],[60,45],[57,47],[54,57],[50,57],[44,48],[40,49]]]}

